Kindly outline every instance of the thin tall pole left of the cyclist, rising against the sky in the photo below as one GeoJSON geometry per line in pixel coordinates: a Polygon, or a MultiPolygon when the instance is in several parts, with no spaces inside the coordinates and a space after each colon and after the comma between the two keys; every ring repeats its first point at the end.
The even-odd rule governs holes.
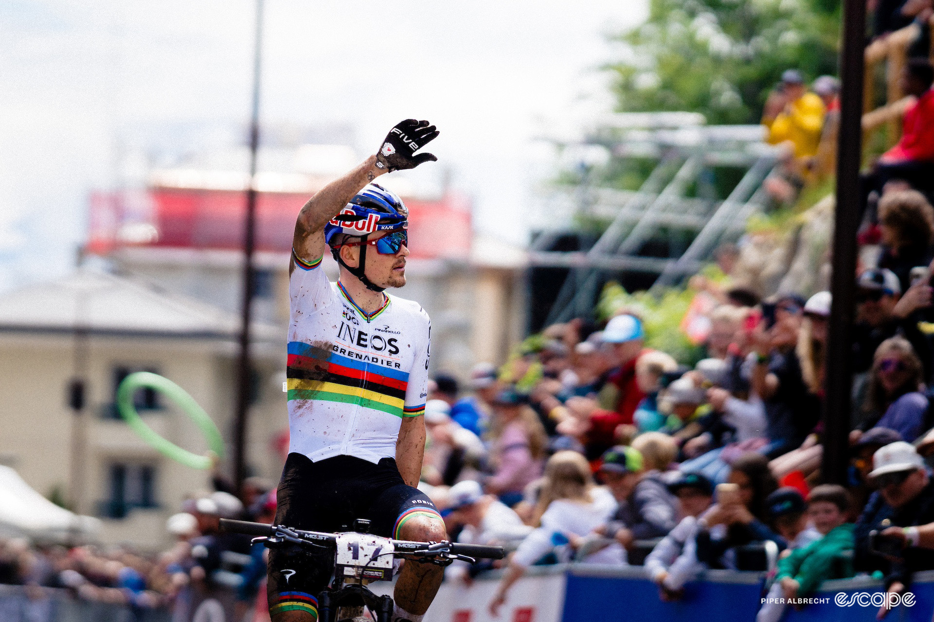
{"type": "Polygon", "coordinates": [[[256,0],[256,34],[253,48],[253,102],[249,122],[249,180],[243,236],[243,306],[240,352],[236,368],[236,410],[233,418],[233,481],[243,488],[247,477],[247,419],[250,398],[249,325],[253,302],[253,250],[256,245],[256,156],[260,146],[260,65],[262,51],[262,1],[256,0]]]}

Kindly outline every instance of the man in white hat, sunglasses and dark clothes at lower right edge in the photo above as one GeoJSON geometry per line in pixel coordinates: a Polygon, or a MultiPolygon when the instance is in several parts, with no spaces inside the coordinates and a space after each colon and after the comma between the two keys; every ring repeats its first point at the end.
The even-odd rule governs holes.
{"type": "MultiPolygon", "coordinates": [[[[934,569],[934,556],[909,547],[901,557],[888,559],[874,548],[870,532],[883,532],[888,526],[911,528],[934,522],[934,482],[921,456],[904,441],[877,450],[872,465],[870,482],[878,491],[870,496],[853,530],[855,568],[868,573],[881,571],[886,591],[901,594],[911,585],[913,573],[934,569]]],[[[880,611],[880,615],[885,613],[880,611]]]]}

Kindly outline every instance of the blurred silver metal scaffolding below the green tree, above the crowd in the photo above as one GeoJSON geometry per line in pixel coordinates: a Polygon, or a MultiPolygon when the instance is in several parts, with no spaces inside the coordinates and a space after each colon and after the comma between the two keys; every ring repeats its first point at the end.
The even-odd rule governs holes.
{"type": "Polygon", "coordinates": [[[550,198],[572,202],[576,214],[610,224],[587,250],[548,250],[559,236],[556,231],[532,243],[533,267],[570,269],[548,324],[587,315],[608,272],[657,274],[656,290],[679,283],[697,272],[719,244],[738,239],[749,216],[765,208],[762,183],[776,166],[777,152],[764,143],[763,128],[702,123],[700,115],[686,113],[617,114],[583,141],[605,147],[615,158],[658,163],[638,190],[600,187],[592,182],[596,175],[587,173],[579,186],[556,190],[550,198]],[[686,196],[689,187],[703,184],[704,173],[725,166],[744,169],[729,196],[686,196]],[[646,242],[666,234],[690,242],[670,243],[667,257],[644,254],[646,242]]]}

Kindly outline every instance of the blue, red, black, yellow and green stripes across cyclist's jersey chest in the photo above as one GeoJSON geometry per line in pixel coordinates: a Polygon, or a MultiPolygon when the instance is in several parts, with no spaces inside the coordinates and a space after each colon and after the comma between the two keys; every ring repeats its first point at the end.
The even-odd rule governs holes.
{"type": "MultiPolygon", "coordinates": [[[[289,342],[288,399],[316,399],[373,408],[396,417],[405,413],[408,374],[375,366],[304,343],[289,342]]],[[[421,414],[424,405],[417,407],[421,414]]]]}

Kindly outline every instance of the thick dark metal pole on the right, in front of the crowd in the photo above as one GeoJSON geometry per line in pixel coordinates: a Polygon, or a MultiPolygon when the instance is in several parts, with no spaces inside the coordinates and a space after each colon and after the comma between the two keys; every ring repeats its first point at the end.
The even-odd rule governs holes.
{"type": "Polygon", "coordinates": [[[833,226],[833,278],[827,352],[827,403],[824,408],[822,476],[846,482],[849,463],[847,435],[852,385],[851,341],[856,305],[856,231],[859,205],[859,165],[862,159],[863,46],[866,0],[843,3],[840,138],[837,144],[837,205],[833,226]]]}

